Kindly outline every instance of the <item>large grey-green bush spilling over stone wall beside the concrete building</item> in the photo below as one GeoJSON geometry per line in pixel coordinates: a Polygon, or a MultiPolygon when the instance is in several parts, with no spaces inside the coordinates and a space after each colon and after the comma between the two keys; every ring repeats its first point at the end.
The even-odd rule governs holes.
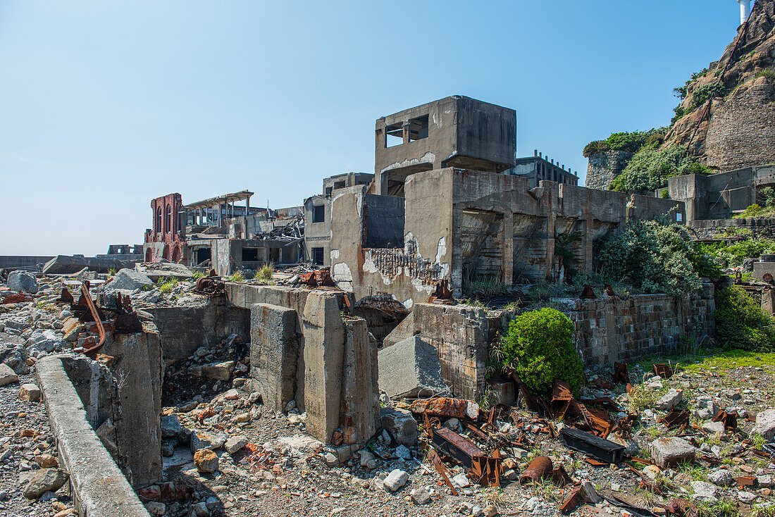
{"type": "Polygon", "coordinates": [[[649,293],[682,295],[698,291],[701,277],[721,275],[684,226],[664,219],[628,222],[601,242],[598,260],[606,276],[649,293]]]}

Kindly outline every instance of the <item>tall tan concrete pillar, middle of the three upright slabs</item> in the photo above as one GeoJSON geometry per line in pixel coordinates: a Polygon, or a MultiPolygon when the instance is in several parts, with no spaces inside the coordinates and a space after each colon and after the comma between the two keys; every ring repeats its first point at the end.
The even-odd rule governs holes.
{"type": "Polygon", "coordinates": [[[304,308],[306,428],[325,443],[339,426],[344,334],[336,295],[310,293],[304,308]]]}

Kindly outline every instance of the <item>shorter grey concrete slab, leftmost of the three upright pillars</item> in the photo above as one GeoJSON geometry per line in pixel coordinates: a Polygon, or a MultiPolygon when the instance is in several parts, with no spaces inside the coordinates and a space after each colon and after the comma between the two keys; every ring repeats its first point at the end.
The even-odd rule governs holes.
{"type": "Polygon", "coordinates": [[[284,411],[296,395],[299,336],[296,311],[257,303],[250,308],[250,377],[263,405],[284,411]]]}

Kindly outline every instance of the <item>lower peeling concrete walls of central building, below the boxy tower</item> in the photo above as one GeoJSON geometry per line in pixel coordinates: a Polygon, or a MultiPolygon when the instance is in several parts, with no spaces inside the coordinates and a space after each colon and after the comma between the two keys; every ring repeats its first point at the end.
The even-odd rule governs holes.
{"type": "MultiPolygon", "coordinates": [[[[405,182],[402,246],[367,246],[370,206],[381,196],[364,188],[332,199],[332,277],[356,299],[392,295],[405,306],[427,301],[439,281],[456,296],[481,277],[504,284],[560,281],[555,239],[576,234],[578,271],[592,271],[594,242],[628,220],[668,215],[684,220],[684,205],[670,199],[628,196],[570,184],[482,171],[417,172],[405,182]]],[[[567,264],[566,264],[567,265],[567,264]]]]}

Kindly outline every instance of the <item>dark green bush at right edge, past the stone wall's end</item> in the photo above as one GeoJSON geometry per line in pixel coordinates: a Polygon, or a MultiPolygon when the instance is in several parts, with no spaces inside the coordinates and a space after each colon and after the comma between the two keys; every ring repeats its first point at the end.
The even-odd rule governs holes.
{"type": "Polygon", "coordinates": [[[741,288],[719,289],[716,302],[716,341],[727,348],[775,350],[775,319],[741,288]]]}

